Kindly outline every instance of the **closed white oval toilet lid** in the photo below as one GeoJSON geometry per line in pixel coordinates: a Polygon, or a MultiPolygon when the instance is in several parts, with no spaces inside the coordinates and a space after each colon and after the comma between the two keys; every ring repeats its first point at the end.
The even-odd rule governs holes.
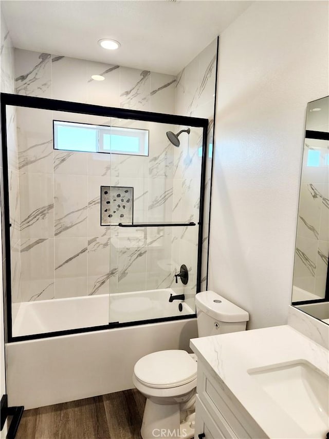
{"type": "Polygon", "coordinates": [[[196,378],[196,361],[186,350],[160,350],[138,360],[134,373],[149,387],[177,387],[196,378]]]}

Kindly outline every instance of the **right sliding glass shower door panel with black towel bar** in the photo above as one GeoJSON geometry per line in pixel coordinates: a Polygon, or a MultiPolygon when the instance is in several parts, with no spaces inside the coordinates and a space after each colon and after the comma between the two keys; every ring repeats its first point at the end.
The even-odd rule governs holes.
{"type": "Polygon", "coordinates": [[[108,201],[113,206],[108,226],[109,323],[193,315],[203,130],[114,118],[112,127],[147,131],[148,154],[111,151],[115,178],[108,190],[108,201]],[[179,137],[175,137],[181,130],[179,137]],[[123,209],[127,206],[125,191],[132,203],[129,218],[123,209]],[[124,214],[125,222],[120,222],[120,217],[113,221],[114,210],[116,215],[124,214]],[[181,272],[181,266],[186,266],[188,272],[186,285],[179,276],[176,283],[175,274],[181,272]]]}

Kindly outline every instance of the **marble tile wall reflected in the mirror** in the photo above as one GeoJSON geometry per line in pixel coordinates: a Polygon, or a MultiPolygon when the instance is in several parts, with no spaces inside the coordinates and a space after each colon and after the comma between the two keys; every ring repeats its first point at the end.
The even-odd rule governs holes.
{"type": "Polygon", "coordinates": [[[306,139],[303,152],[294,286],[324,297],[329,254],[329,142],[306,139]],[[307,166],[309,150],[319,166],[307,166]]]}

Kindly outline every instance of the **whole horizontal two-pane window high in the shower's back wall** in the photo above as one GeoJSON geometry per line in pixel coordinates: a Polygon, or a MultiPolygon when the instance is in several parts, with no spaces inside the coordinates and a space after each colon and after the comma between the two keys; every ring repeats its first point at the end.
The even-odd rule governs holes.
{"type": "Polygon", "coordinates": [[[64,151],[149,155],[149,131],[53,120],[53,147],[64,151]]]}

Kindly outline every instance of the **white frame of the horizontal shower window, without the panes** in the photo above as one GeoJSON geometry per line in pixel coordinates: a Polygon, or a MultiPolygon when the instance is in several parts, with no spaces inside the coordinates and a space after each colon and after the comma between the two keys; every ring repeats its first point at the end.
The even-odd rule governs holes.
{"type": "Polygon", "coordinates": [[[123,155],[141,155],[148,156],[149,155],[149,130],[144,130],[140,128],[126,128],[126,127],[112,127],[106,125],[93,125],[93,124],[83,124],[81,122],[67,122],[64,120],[53,120],[53,148],[59,151],[77,151],[77,152],[100,152],[105,154],[123,154],[123,155]],[[57,127],[79,127],[85,129],[93,129],[97,130],[98,135],[96,138],[95,150],[90,151],[79,151],[76,149],[63,149],[58,145],[58,135],[57,135],[57,127]],[[138,151],[122,151],[115,149],[106,149],[104,148],[104,135],[122,135],[124,137],[138,137],[139,145],[138,151]]]}

